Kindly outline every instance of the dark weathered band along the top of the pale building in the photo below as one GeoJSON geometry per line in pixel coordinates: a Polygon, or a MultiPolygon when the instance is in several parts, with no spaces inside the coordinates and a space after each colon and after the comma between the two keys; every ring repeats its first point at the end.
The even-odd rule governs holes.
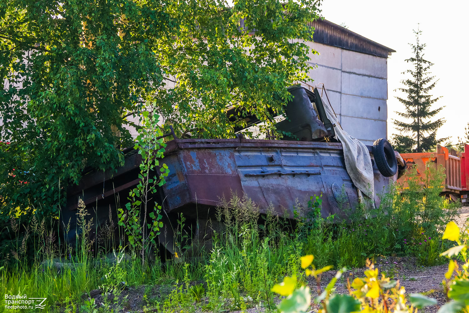
{"type": "Polygon", "coordinates": [[[356,32],[334,24],[327,20],[316,20],[308,23],[314,27],[313,41],[328,46],[340,47],[361,53],[387,58],[395,50],[365,38],[356,32]]]}

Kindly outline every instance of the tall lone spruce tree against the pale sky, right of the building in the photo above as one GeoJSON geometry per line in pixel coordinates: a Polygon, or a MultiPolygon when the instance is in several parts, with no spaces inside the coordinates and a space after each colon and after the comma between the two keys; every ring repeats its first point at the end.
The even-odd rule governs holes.
{"type": "Polygon", "coordinates": [[[436,138],[436,131],[445,122],[443,118],[431,121],[431,118],[443,108],[432,108],[432,105],[440,99],[430,94],[438,79],[435,80],[435,76],[430,76],[429,69],[433,63],[424,59],[426,45],[421,43],[419,38],[422,31],[414,30],[414,33],[416,43],[409,44],[414,56],[405,60],[413,64],[413,69],[405,72],[410,74],[410,78],[402,81],[407,88],[398,89],[405,92],[407,98],[396,97],[405,106],[405,112],[396,113],[406,120],[393,120],[397,130],[401,132],[393,136],[394,148],[402,152],[422,152],[434,149],[437,143],[447,139],[436,138]]]}

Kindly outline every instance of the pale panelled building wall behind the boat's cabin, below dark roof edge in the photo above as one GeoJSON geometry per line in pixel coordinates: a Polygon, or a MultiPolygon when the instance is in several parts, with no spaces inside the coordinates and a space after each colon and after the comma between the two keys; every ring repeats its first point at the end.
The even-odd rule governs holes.
{"type": "MultiPolygon", "coordinates": [[[[340,124],[365,145],[387,138],[387,59],[316,42],[311,85],[324,83],[340,124]]],[[[323,96],[325,98],[325,96],[323,96]]]]}

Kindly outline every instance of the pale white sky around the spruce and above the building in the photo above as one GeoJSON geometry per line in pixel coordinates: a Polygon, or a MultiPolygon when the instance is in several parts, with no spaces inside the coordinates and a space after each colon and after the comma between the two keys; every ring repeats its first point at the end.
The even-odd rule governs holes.
{"type": "Polygon", "coordinates": [[[431,93],[442,96],[434,106],[445,106],[437,118],[446,123],[437,136],[457,143],[469,122],[468,0],[323,0],[321,8],[325,19],[396,50],[388,59],[388,137],[397,132],[393,119],[399,116],[394,111],[404,111],[395,96],[405,94],[395,90],[403,87],[402,73],[412,66],[404,61],[412,56],[412,30],[423,31],[424,58],[434,63],[431,74],[439,79],[431,93]]]}

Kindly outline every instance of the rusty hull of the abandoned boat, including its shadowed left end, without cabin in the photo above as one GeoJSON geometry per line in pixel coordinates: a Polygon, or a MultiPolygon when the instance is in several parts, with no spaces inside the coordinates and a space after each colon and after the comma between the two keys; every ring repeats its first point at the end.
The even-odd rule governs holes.
{"type": "MultiPolygon", "coordinates": [[[[368,147],[373,160],[372,147],[368,147]]],[[[169,168],[166,183],[155,197],[162,205],[165,231],[160,242],[173,252],[173,227],[182,213],[187,224],[197,225],[201,216],[214,214],[224,196],[245,195],[265,214],[294,217],[297,204],[303,206],[311,196],[322,195],[323,217],[346,214],[358,204],[358,191],[345,168],[342,145],[328,142],[282,141],[261,139],[174,139],[167,142],[161,160],[169,168]],[[270,206],[270,208],[269,208],[270,206]]],[[[107,241],[109,225],[117,226],[117,207],[123,207],[129,191],[139,182],[141,156],[128,154],[117,172],[91,172],[78,185],[68,188],[66,205],[61,212],[63,236],[74,243],[77,227],[77,203],[83,204],[93,219],[91,240],[107,241]],[[106,229],[106,231],[104,231],[106,229]],[[106,235],[107,236],[107,235],[106,235]]],[[[382,176],[373,162],[375,204],[378,194],[393,177],[382,176]]],[[[301,211],[299,211],[301,214],[301,211]]],[[[112,236],[114,244],[122,242],[112,236]]]]}

